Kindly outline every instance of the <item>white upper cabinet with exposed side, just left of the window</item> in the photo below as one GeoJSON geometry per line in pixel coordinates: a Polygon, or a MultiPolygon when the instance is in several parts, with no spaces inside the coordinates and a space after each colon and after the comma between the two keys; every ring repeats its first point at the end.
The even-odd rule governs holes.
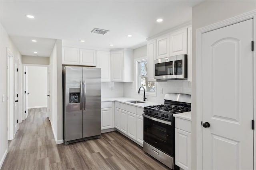
{"type": "Polygon", "coordinates": [[[133,81],[133,51],[118,49],[111,51],[111,81],[133,81]]]}

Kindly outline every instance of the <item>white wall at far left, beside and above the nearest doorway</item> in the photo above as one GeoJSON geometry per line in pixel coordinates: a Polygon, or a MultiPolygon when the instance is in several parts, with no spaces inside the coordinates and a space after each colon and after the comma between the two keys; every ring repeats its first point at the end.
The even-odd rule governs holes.
{"type": "MultiPolygon", "coordinates": [[[[6,30],[0,25],[0,168],[7,154],[7,47],[21,61],[21,55],[6,30]],[[5,96],[4,102],[2,96],[5,96]]],[[[20,95],[21,96],[21,95],[20,95]]],[[[22,102],[22,99],[19,98],[22,102]]]]}

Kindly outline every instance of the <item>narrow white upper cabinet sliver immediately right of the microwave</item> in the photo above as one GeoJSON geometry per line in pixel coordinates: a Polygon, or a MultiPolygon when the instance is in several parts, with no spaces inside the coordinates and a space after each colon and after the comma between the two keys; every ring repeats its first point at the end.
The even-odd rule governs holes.
{"type": "Polygon", "coordinates": [[[188,81],[192,81],[192,27],[188,27],[188,81]]]}

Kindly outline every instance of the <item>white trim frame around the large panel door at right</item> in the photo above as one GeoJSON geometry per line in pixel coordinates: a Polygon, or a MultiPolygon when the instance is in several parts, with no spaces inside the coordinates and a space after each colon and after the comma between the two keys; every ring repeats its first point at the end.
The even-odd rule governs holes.
{"type": "MultiPolygon", "coordinates": [[[[226,27],[228,25],[232,25],[238,22],[246,21],[249,19],[253,19],[253,40],[254,40],[254,51],[253,57],[256,57],[256,49],[255,49],[255,41],[256,41],[256,10],[246,12],[242,15],[220,21],[218,23],[214,23],[212,25],[208,25],[206,27],[202,27],[196,29],[196,129],[192,129],[192,131],[196,131],[196,169],[203,169],[203,154],[202,154],[202,34],[213,31],[215,29],[219,29],[222,27],[226,27]]],[[[256,117],[256,60],[253,60],[253,119],[256,117]]],[[[194,121],[194,120],[193,120],[194,121]]],[[[256,146],[256,131],[253,132],[253,142],[254,146],[256,146]]],[[[254,154],[256,153],[256,147],[254,147],[254,154]]],[[[254,156],[254,169],[256,168],[256,156],[254,156]]]]}

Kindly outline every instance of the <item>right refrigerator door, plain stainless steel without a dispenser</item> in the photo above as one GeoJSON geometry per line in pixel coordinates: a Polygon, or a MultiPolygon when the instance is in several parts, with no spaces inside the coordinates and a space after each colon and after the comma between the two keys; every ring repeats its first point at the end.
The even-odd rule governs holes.
{"type": "Polygon", "coordinates": [[[83,80],[84,138],[101,134],[101,68],[84,67],[83,80]]]}

